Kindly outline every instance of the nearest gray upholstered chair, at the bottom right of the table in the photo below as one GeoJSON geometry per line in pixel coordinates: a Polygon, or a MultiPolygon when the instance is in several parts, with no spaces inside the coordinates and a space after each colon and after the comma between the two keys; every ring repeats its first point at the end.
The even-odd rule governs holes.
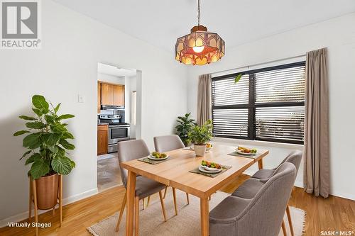
{"type": "Polygon", "coordinates": [[[278,235],[295,178],[295,166],[284,163],[253,198],[225,198],[209,213],[209,235],[278,235]]]}

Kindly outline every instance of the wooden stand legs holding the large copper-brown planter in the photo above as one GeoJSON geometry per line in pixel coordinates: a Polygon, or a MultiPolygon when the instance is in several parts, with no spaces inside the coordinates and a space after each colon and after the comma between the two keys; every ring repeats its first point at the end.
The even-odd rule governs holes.
{"type": "MultiPolygon", "coordinates": [[[[60,227],[62,226],[62,175],[59,174],[58,179],[58,205],[59,205],[59,217],[60,217],[60,227]]],[[[28,206],[28,222],[31,223],[32,218],[32,202],[34,204],[35,210],[35,235],[38,236],[38,208],[37,208],[37,194],[36,194],[35,180],[30,177],[30,195],[29,195],[29,206],[28,206]]],[[[57,206],[57,205],[55,205],[57,206]]],[[[55,206],[53,206],[52,213],[55,214],[55,206]]]]}

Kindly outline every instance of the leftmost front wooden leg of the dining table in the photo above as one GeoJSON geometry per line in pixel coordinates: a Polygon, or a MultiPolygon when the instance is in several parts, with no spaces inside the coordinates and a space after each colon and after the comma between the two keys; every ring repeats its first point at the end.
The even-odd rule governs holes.
{"type": "Polygon", "coordinates": [[[134,197],[136,195],[136,173],[129,171],[127,181],[126,236],[133,235],[134,197]]]}

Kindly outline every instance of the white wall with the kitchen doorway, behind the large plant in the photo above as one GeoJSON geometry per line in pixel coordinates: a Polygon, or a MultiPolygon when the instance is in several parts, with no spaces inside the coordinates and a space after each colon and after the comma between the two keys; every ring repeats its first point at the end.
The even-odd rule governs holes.
{"type": "Polygon", "coordinates": [[[62,113],[76,116],[69,122],[77,167],[64,179],[67,202],[97,192],[97,62],[141,69],[139,129],[152,150],[153,136],[171,133],[176,116],[187,112],[185,69],[171,53],[53,1],[42,1],[42,29],[42,49],[0,52],[1,224],[26,218],[28,167],[18,161],[25,151],[22,137],[12,134],[24,127],[18,116],[31,115],[33,94],[61,102],[62,113]],[[84,103],[77,102],[78,94],[84,103]]]}

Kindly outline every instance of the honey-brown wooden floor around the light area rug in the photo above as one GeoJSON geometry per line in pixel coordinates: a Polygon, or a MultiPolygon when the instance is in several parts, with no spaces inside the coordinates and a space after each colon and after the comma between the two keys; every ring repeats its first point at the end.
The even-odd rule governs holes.
{"type": "MultiPolygon", "coordinates": [[[[222,191],[231,193],[249,176],[240,176],[233,184],[224,186],[222,191]]],[[[213,196],[212,196],[213,197],[213,196]]],[[[39,222],[52,222],[52,226],[40,229],[40,235],[90,235],[86,228],[119,210],[124,198],[124,187],[118,186],[82,201],[63,207],[63,225],[59,227],[58,212],[39,216],[39,222]]],[[[355,232],[355,201],[329,196],[316,198],[295,188],[290,199],[290,206],[306,211],[305,235],[321,235],[321,230],[352,230],[355,232]]],[[[33,228],[0,229],[0,235],[34,235],[33,228]]],[[[352,235],[355,235],[354,233],[352,235]]]]}

